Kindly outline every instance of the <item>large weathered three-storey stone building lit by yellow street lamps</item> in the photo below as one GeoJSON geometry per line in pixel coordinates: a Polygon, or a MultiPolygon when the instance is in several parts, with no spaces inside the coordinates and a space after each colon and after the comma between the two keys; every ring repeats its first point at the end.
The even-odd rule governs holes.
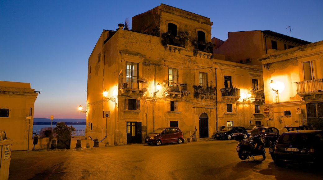
{"type": "Polygon", "coordinates": [[[178,126],[185,139],[210,138],[261,120],[261,68],[213,54],[212,24],[161,4],[134,16],[130,31],[104,30],[89,57],[86,136],[123,145],[178,126]]]}

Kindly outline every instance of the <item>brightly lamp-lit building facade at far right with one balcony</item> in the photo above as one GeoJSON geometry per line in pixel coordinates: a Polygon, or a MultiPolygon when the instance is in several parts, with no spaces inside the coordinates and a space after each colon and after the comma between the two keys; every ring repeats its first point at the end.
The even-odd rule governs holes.
{"type": "Polygon", "coordinates": [[[264,55],[268,124],[307,125],[323,117],[323,41],[264,55]]]}

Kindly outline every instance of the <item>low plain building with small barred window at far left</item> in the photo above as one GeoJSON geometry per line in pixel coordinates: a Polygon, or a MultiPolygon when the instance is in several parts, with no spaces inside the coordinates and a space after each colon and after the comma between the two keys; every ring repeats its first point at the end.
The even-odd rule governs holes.
{"type": "Polygon", "coordinates": [[[34,104],[38,93],[29,83],[0,81],[0,130],[14,140],[12,151],[33,148],[34,104]]]}

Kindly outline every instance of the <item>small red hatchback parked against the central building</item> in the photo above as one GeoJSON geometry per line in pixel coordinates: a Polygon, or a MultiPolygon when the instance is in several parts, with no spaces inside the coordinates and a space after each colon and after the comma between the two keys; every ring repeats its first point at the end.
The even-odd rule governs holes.
{"type": "Polygon", "coordinates": [[[182,144],[184,142],[182,131],[178,127],[161,127],[156,129],[153,133],[145,138],[148,145],[161,145],[164,143],[182,144]]]}

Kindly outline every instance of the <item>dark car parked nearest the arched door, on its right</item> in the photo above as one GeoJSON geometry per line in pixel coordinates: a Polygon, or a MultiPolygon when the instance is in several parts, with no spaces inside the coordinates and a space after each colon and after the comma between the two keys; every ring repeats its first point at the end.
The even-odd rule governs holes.
{"type": "Polygon", "coordinates": [[[223,128],[222,130],[215,133],[214,137],[216,139],[227,139],[230,140],[234,133],[242,133],[244,134],[244,138],[247,138],[247,130],[242,126],[228,126],[223,128]]]}

